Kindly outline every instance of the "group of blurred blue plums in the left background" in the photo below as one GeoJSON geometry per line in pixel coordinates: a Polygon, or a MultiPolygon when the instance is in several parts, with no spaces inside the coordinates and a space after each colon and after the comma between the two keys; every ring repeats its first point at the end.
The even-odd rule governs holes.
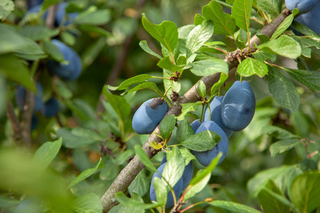
{"type": "MultiPolygon", "coordinates": [[[[28,13],[37,13],[41,9],[42,1],[28,1],[29,9],[28,13]]],[[[68,6],[67,3],[57,4],[57,8],[55,10],[55,25],[59,26],[62,23],[63,18],[66,17],[65,8],[68,6]]],[[[71,18],[75,18],[78,13],[70,13],[68,14],[71,18]]],[[[43,18],[46,18],[46,13],[43,18]]],[[[70,23],[69,20],[65,21],[65,25],[70,23]]],[[[50,75],[56,75],[63,80],[70,81],[78,78],[82,72],[82,61],[80,56],[78,55],[73,48],[70,48],[65,43],[61,42],[57,39],[52,39],[51,42],[55,45],[56,48],[62,53],[64,62],[58,62],[55,60],[48,60],[46,62],[46,67],[48,67],[48,71],[50,75]]],[[[26,88],[19,85],[16,89],[16,103],[18,108],[23,111],[24,106],[26,104],[26,88]]],[[[36,116],[37,111],[41,111],[43,116],[53,117],[58,114],[59,104],[58,100],[55,97],[50,97],[48,101],[43,103],[43,88],[40,82],[37,82],[37,92],[35,94],[35,106],[33,108],[33,116],[31,120],[31,131],[36,129],[38,124],[38,118],[36,116]]]]}

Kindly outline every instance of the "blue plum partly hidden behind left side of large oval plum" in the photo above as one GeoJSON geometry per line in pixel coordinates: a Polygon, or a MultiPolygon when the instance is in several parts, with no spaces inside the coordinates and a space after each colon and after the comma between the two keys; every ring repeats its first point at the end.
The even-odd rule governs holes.
{"type": "Polygon", "coordinates": [[[209,117],[209,108],[206,109],[204,114],[204,120],[205,121],[214,121],[215,124],[218,124],[223,131],[225,131],[225,134],[228,138],[233,134],[233,131],[229,129],[225,124],[223,124],[222,118],[221,118],[221,106],[223,102],[223,96],[215,96],[213,100],[210,102],[210,110],[211,110],[211,117],[209,117]]]}

